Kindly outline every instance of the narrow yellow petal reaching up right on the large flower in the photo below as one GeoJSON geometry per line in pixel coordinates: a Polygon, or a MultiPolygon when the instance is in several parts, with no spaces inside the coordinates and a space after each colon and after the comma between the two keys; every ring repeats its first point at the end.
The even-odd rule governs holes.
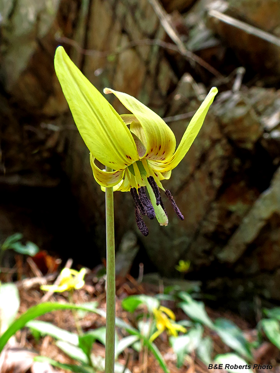
{"type": "Polygon", "coordinates": [[[167,171],[173,170],[175,167],[179,165],[179,163],[185,157],[195,137],[197,136],[203,124],[204,118],[207,114],[207,111],[217,93],[218,93],[218,90],[215,87],[213,87],[210,90],[210,92],[207,94],[207,96],[205,97],[204,101],[201,103],[196,113],[191,118],[174,156],[171,157],[169,160],[167,159],[165,163],[161,163],[158,161],[153,162],[152,167],[155,170],[159,172],[167,172],[167,171]]]}

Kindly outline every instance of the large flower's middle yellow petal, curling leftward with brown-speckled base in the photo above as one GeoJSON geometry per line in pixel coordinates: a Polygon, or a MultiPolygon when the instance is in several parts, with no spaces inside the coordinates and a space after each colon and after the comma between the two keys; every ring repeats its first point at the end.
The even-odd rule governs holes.
{"type": "MultiPolygon", "coordinates": [[[[176,147],[174,133],[158,114],[127,93],[108,88],[104,89],[104,93],[114,93],[140,122],[145,134],[143,143],[146,146],[146,153],[142,158],[158,160],[174,153],[176,147]]],[[[132,128],[130,130],[133,132],[132,128]]]]}

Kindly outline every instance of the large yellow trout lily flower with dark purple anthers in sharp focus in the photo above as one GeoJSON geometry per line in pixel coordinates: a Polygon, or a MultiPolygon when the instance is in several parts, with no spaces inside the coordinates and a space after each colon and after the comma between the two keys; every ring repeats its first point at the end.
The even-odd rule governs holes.
{"type": "Polygon", "coordinates": [[[131,192],[136,223],[145,236],[148,228],[141,214],[150,219],[156,217],[160,225],[168,224],[159,188],[165,191],[178,217],[183,220],[171,192],[165,190],[161,181],[169,179],[172,170],[185,157],[217,89],[212,88],[201,103],[176,149],[175,135],[160,116],[129,94],[105,88],[104,93],[113,93],[131,112],[119,115],[61,46],[56,50],[54,64],[75,123],[90,150],[96,182],[102,189],[113,187],[113,190],[131,192]],[[98,168],[95,159],[112,171],[98,168]]]}

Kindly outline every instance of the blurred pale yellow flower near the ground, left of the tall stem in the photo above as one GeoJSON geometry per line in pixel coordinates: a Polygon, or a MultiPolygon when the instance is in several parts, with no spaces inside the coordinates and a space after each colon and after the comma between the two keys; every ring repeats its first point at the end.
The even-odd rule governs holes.
{"type": "Polygon", "coordinates": [[[80,289],[85,285],[84,277],[86,268],[82,268],[80,272],[64,268],[60,273],[59,285],[43,285],[41,290],[62,292],[67,290],[80,289]]]}

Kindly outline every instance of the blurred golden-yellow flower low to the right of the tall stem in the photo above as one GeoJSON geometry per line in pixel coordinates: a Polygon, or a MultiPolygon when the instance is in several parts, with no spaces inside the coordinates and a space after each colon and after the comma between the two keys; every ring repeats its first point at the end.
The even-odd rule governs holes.
{"type": "Polygon", "coordinates": [[[175,314],[171,309],[160,306],[158,309],[154,308],[153,313],[156,320],[157,331],[150,337],[150,342],[154,341],[165,330],[167,330],[168,334],[175,337],[178,336],[178,332],[187,332],[184,326],[175,322],[175,314]]]}

